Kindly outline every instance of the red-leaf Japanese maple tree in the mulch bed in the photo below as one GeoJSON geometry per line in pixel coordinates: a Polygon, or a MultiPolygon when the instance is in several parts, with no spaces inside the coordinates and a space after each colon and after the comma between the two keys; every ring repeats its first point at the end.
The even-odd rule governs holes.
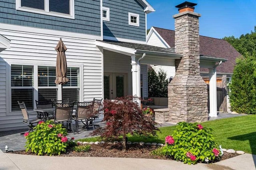
{"type": "Polygon", "coordinates": [[[156,135],[158,128],[152,117],[142,113],[138,107],[139,100],[133,96],[117,98],[114,102],[104,100],[104,119],[106,127],[94,131],[94,135],[110,139],[122,136],[123,152],[126,151],[126,135],[156,135]]]}

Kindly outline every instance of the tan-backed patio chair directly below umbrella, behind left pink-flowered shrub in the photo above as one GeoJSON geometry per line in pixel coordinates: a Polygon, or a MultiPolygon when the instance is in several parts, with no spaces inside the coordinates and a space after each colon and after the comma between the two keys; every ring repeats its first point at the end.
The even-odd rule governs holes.
{"type": "Polygon", "coordinates": [[[60,124],[66,123],[67,125],[69,124],[72,128],[72,132],[74,133],[74,129],[72,125],[73,107],[74,107],[74,102],[55,103],[54,119],[51,119],[51,120],[54,121],[54,123],[60,123],[60,124]]]}

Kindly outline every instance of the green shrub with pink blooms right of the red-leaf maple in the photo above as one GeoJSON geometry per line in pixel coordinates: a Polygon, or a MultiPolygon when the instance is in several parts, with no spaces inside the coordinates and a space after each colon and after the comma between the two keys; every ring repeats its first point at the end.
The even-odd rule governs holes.
{"type": "Polygon", "coordinates": [[[209,129],[186,122],[178,123],[174,134],[166,137],[166,146],[162,151],[164,155],[188,164],[204,162],[206,158],[212,161],[218,159],[220,154],[209,129]]]}

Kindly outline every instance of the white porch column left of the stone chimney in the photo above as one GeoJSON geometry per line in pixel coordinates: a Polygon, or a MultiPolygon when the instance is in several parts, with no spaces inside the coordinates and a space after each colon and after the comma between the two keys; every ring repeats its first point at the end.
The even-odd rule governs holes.
{"type": "MultiPolygon", "coordinates": [[[[132,96],[140,97],[140,65],[136,61],[136,56],[132,55],[132,96]]],[[[140,106],[140,100],[137,101],[140,106]]]]}

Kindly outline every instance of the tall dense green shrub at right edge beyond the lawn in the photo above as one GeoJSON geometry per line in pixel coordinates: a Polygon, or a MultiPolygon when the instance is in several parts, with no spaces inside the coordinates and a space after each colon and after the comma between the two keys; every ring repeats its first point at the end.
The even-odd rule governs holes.
{"type": "Polygon", "coordinates": [[[230,106],[238,113],[256,114],[256,52],[236,60],[230,84],[230,106]]]}

